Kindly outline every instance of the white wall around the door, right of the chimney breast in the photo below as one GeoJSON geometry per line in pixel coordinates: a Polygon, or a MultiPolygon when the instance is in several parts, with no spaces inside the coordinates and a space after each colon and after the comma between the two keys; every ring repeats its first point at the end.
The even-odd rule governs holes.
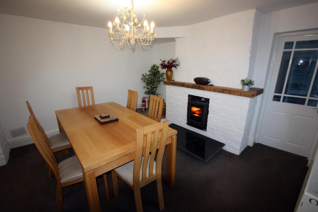
{"type": "MultiPolygon", "coordinates": [[[[252,78],[255,80],[255,87],[266,88],[265,80],[266,78],[270,79],[267,72],[271,62],[270,55],[274,34],[318,28],[318,3],[262,14],[261,19],[255,71],[252,78]]],[[[261,127],[262,111],[266,104],[264,101],[267,95],[266,89],[264,92],[259,98],[252,126],[252,129],[256,130],[253,130],[254,135],[251,137],[256,139],[256,142],[258,142],[261,127]]]]}

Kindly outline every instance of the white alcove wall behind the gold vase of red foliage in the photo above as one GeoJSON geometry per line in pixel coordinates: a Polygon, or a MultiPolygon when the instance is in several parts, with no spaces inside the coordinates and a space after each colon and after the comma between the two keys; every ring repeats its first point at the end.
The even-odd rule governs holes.
{"type": "MultiPolygon", "coordinates": [[[[160,64],[160,59],[170,59],[176,57],[176,42],[175,39],[170,40],[169,42],[160,43],[155,45],[155,63],[160,64]]],[[[173,69],[175,72],[176,69],[173,69]]],[[[166,72],[165,69],[160,69],[161,72],[166,72]]],[[[174,76],[173,76],[174,79],[174,76]]],[[[164,99],[166,99],[166,86],[161,83],[158,88],[158,93],[164,99]]]]}

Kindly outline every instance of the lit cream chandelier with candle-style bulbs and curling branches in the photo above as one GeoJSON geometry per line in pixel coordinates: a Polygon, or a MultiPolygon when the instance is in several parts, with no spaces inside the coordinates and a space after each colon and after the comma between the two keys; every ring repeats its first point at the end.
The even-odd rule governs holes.
{"type": "Polygon", "coordinates": [[[140,45],[149,45],[155,39],[156,33],[154,31],[155,24],[152,21],[150,24],[150,30],[147,20],[145,20],[145,14],[143,14],[142,21],[139,22],[138,18],[134,14],[134,2],[131,0],[131,8],[128,10],[128,7],[125,7],[124,10],[117,9],[118,17],[115,18],[115,21],[108,22],[109,27],[109,38],[116,45],[122,45],[127,43],[134,48],[136,42],[140,45]],[[128,11],[126,11],[128,10],[128,11]],[[143,31],[141,30],[141,24],[143,23],[143,31]],[[114,33],[113,25],[115,26],[114,33]],[[115,38],[114,38],[115,34],[115,38]]]}

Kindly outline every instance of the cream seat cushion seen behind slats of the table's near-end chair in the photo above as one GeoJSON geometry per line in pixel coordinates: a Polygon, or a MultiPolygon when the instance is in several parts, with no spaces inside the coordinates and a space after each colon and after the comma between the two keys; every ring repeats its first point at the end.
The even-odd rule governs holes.
{"type": "MultiPolygon", "coordinates": [[[[147,164],[147,177],[149,177],[149,161],[150,161],[150,155],[148,159],[148,164],[147,164]]],[[[129,163],[126,163],[118,168],[115,168],[115,171],[117,174],[119,174],[126,182],[129,183],[129,185],[134,185],[133,181],[133,171],[134,171],[134,162],[135,161],[130,161],[129,163]]],[[[142,162],[143,162],[143,156],[141,159],[141,168],[140,168],[140,181],[142,181],[142,162]]],[[[154,169],[153,173],[156,173],[156,161],[154,161],[154,169]]]]}

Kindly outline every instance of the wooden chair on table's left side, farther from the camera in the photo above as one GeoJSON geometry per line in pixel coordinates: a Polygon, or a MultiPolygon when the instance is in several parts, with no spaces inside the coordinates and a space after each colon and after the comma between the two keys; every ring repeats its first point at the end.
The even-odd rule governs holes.
{"type": "MultiPolygon", "coordinates": [[[[53,150],[53,152],[59,152],[59,151],[64,150],[64,152],[67,154],[68,149],[72,148],[72,145],[71,145],[70,141],[68,140],[66,134],[63,132],[63,133],[59,133],[59,134],[53,135],[53,136],[48,138],[47,135],[45,134],[43,127],[40,125],[40,122],[38,121],[35,114],[33,113],[31,105],[28,101],[26,101],[26,106],[29,109],[30,115],[33,116],[38,129],[40,130],[41,134],[45,137],[45,140],[48,141],[48,144],[51,147],[51,149],[53,150]]],[[[49,178],[51,178],[51,176],[52,176],[52,171],[49,168],[49,178]]]]}

